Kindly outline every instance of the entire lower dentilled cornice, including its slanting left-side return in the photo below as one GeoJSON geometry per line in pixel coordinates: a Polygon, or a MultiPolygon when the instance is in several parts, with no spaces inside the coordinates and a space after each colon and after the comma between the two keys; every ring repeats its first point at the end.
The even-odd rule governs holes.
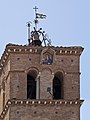
{"type": "Polygon", "coordinates": [[[3,120],[10,106],[14,105],[31,105],[31,106],[61,106],[61,105],[79,105],[81,106],[84,100],[8,100],[1,115],[0,120],[3,120]]]}

